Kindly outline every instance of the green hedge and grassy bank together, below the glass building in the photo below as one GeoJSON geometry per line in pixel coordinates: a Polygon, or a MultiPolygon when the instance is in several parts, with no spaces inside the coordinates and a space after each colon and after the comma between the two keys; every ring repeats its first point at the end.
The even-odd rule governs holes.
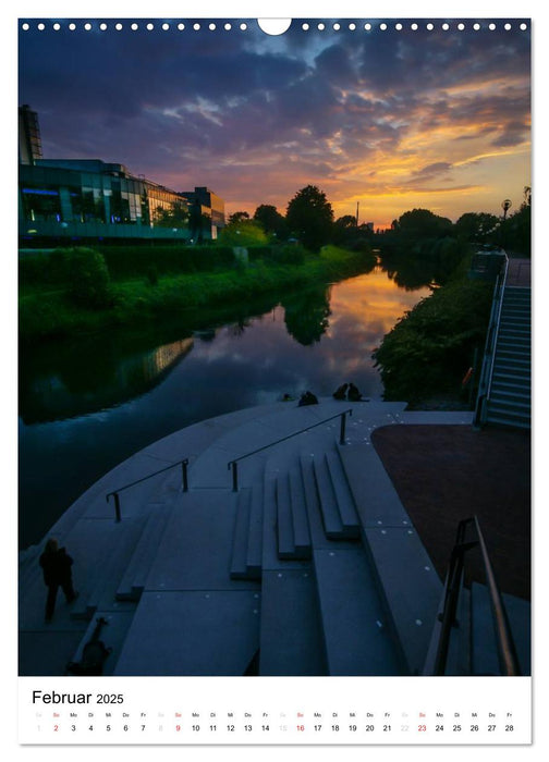
{"type": "Polygon", "coordinates": [[[125,247],[25,257],[20,262],[21,340],[144,324],[247,303],[261,294],[343,280],[371,270],[376,262],[371,253],[331,245],[318,255],[292,244],[249,247],[244,258],[223,246],[182,247],[179,253],[160,248],[155,247],[154,258],[139,249],[132,256],[125,247]]]}

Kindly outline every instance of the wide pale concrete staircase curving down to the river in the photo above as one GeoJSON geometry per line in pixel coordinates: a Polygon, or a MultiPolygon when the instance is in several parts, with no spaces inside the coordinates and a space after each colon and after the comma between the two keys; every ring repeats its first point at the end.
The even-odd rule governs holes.
{"type": "MultiPolygon", "coordinates": [[[[448,590],[363,435],[398,422],[396,408],[404,405],[378,404],[363,429],[354,423],[354,439],[338,438],[332,421],[272,447],[265,432],[276,439],[284,416],[251,422],[242,430],[260,434],[261,453],[241,465],[240,483],[220,467],[242,441],[229,432],[192,464],[190,484],[168,470],[145,481],[142,500],[129,491],[120,521],[106,520],[112,506],[99,491],[66,527],[80,566],[88,558],[63,624],[66,648],[74,643],[66,662],[82,660],[103,618],[106,675],[440,674],[432,654],[448,590]]],[[[312,414],[286,418],[297,415],[312,414]]],[[[44,598],[36,556],[20,576],[20,627],[35,630],[44,598]]],[[[444,674],[501,674],[486,590],[464,588],[444,674]]],[[[528,674],[529,604],[505,603],[528,674]]]]}

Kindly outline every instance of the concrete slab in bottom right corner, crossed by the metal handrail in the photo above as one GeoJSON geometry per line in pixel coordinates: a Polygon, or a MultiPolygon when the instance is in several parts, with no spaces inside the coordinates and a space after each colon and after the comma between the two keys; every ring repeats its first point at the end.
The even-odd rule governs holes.
{"type": "MultiPolygon", "coordinates": [[[[513,595],[502,595],[509,626],[523,675],[530,674],[530,604],[513,595]]],[[[472,600],[472,674],[500,675],[498,647],[490,597],[485,585],[474,582],[472,600]]]]}

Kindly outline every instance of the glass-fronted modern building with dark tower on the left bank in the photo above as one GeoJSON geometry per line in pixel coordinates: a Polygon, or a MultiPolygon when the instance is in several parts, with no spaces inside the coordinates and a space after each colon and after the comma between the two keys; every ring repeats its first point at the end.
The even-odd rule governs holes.
{"type": "Polygon", "coordinates": [[[44,159],[37,114],[20,109],[19,219],[23,247],[89,239],[216,238],[223,200],[205,187],[179,193],[119,163],[44,159]],[[198,209],[198,216],[193,210],[198,209]]]}

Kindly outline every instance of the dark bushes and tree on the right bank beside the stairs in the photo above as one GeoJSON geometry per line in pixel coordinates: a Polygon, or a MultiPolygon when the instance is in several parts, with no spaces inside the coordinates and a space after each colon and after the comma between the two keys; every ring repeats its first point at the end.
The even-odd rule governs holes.
{"type": "MultiPolygon", "coordinates": [[[[476,226],[469,232],[478,235],[476,226]]],[[[492,283],[468,278],[475,247],[459,224],[426,210],[407,212],[381,238],[382,267],[396,283],[432,288],[373,353],[385,400],[412,407],[434,400],[435,406],[467,406],[469,388],[462,380],[475,358],[477,368],[481,361],[493,290],[492,283]]]]}

